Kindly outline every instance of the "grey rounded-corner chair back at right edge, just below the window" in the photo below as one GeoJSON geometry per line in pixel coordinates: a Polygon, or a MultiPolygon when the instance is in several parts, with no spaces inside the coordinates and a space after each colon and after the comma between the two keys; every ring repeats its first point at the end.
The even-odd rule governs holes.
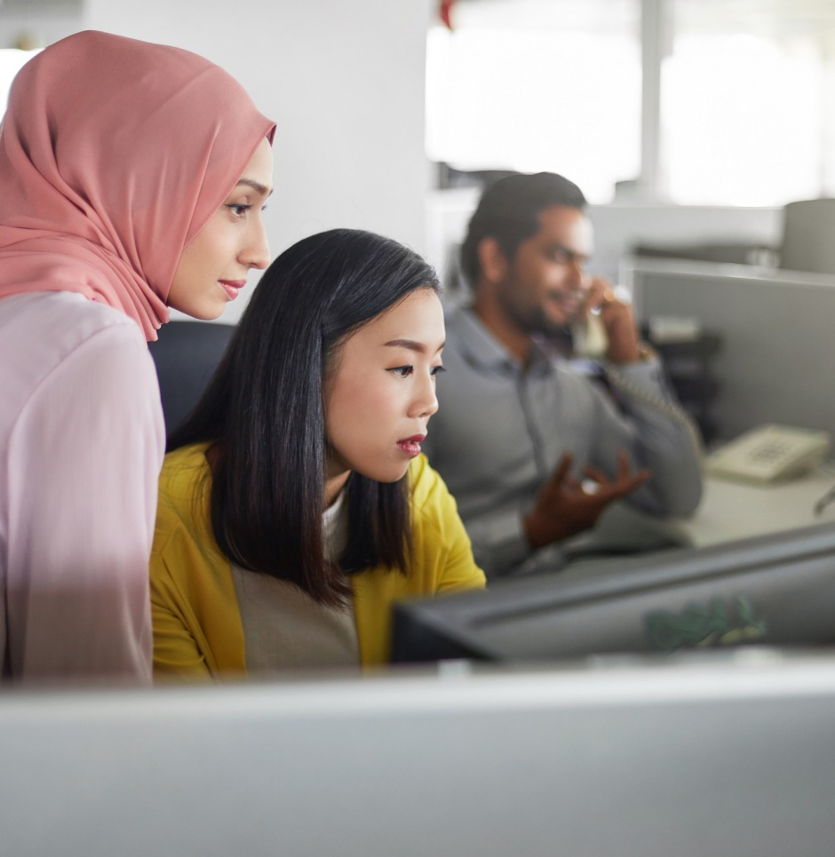
{"type": "Polygon", "coordinates": [[[789,202],[783,207],[780,267],[835,274],[835,199],[789,202]]]}

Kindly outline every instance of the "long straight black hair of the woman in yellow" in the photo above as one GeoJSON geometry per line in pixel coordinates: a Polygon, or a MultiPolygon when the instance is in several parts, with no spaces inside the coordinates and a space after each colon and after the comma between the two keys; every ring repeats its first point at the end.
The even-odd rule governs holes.
{"type": "Polygon", "coordinates": [[[325,559],[322,382],[346,337],[423,288],[439,284],[417,253],[354,229],[306,238],[267,268],[206,393],[169,439],[170,450],[212,443],[211,527],[237,565],[329,605],[348,598],[346,573],[407,572],[405,479],[353,472],[348,545],[338,565],[325,559]]]}

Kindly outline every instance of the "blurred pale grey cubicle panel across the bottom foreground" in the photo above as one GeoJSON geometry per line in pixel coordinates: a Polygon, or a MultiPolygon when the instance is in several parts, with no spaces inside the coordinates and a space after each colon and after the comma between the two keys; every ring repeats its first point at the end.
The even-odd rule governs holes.
{"type": "Polygon", "coordinates": [[[832,853],[832,655],[446,669],[7,692],[3,853],[832,853]]]}

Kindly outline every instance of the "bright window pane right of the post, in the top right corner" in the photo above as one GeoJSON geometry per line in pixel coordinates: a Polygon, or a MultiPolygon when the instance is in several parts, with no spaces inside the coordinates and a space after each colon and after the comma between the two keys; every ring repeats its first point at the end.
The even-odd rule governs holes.
{"type": "Polygon", "coordinates": [[[661,168],[673,202],[781,205],[835,190],[827,175],[831,12],[674,0],[662,65],[661,168]],[[828,187],[827,187],[828,186],[828,187]]]}

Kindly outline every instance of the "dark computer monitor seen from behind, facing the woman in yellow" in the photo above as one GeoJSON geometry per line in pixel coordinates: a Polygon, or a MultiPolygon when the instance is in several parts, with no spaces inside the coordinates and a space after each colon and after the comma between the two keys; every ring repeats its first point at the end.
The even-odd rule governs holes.
{"type": "Polygon", "coordinates": [[[529,662],[690,647],[835,642],[835,524],[394,607],[393,663],[529,662]]]}

